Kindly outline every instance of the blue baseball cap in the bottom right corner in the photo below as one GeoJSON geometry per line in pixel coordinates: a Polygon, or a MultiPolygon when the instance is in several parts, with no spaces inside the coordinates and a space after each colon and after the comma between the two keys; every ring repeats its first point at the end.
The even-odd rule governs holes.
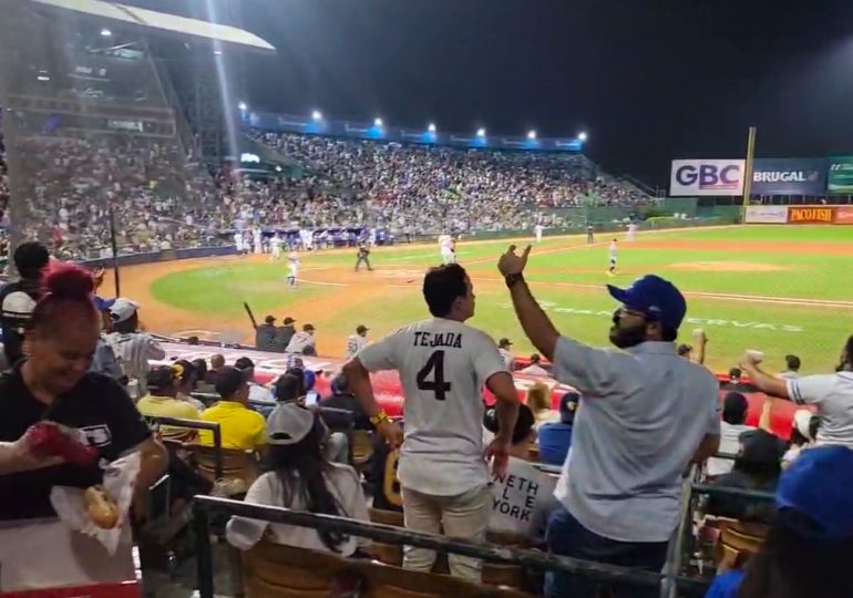
{"type": "Polygon", "coordinates": [[[803,537],[824,542],[853,538],[851,477],[853,450],[835,445],[802,451],[779,480],[775,505],[780,517],[803,537]]]}

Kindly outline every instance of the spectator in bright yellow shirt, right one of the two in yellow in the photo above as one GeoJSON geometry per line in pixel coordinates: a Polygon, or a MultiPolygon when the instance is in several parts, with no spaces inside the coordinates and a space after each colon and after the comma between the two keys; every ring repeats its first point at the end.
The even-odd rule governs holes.
{"type": "MultiPolygon", "coordinates": [[[[267,444],[264,415],[251,411],[246,374],[237,368],[223,368],[216,377],[216,392],[222,401],[202,412],[202,420],[219,424],[223,448],[264,452],[267,444]]],[[[213,446],[213,433],[202,430],[198,441],[213,446]]]]}

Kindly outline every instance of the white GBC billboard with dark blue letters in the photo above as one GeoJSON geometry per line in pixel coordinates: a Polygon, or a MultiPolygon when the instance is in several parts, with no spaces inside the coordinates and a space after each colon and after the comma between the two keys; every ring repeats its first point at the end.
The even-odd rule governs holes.
{"type": "Polygon", "coordinates": [[[742,159],[674,159],[669,195],[742,195],[742,159]]]}

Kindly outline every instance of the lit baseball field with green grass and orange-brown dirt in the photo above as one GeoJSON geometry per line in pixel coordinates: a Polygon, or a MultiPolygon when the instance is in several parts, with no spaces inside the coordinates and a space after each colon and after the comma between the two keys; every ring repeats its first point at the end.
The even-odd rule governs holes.
{"type": "MultiPolygon", "coordinates": [[[[668,278],[685,292],[688,319],[679,342],[691,343],[693,329],[703,329],[710,339],[707,363],[718,370],[728,370],[744,349],[760,349],[772,369],[795,353],[804,372],[829,371],[853,332],[853,226],[640,231],[633,243],[619,234],[618,274],[610,277],[613,237],[598,235],[593,245],[582,237],[545,237],[533,248],[527,279],[567,336],[605,346],[616,303],[604,285],[627,286],[644,274],[668,278]]],[[[463,240],[456,251],[474,281],[476,316],[470,323],[495,339],[508,337],[524,355],[533,348],[495,267],[507,245],[463,240]]],[[[286,260],[247,256],[126,267],[122,295],[142,303],[151,331],[225,342],[254,342],[245,301],[259,321],[271,313],[315,324],[320,354],[337,357],[357,324],[378,339],[425,317],[422,274],[440,261],[435,244],[380,247],[370,256],[373,271],[354,272],[354,252],[301,254],[296,290],[287,288],[286,260]]]]}

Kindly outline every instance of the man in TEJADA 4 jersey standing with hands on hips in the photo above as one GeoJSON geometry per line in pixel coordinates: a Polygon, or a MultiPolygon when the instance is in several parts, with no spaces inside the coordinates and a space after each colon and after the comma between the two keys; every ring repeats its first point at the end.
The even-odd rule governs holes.
{"type": "MultiPolygon", "coordinates": [[[[492,498],[485,458],[503,477],[518,395],[494,341],[464,323],[474,315],[471,279],[458,264],[431,268],[423,297],[433,318],[401,328],[362,349],[343,367],[350,388],[377,430],[400,446],[403,433],[380,410],[368,372],[397,370],[405,398],[405,436],[398,475],[405,527],[483,540],[492,498]],[[500,431],[483,451],[483,398],[497,399],[500,431]],[[485,458],[484,458],[485,455],[485,458]]],[[[403,567],[432,569],[435,553],[405,546],[403,567]]],[[[480,579],[480,561],[449,556],[451,575],[480,579]]]]}

